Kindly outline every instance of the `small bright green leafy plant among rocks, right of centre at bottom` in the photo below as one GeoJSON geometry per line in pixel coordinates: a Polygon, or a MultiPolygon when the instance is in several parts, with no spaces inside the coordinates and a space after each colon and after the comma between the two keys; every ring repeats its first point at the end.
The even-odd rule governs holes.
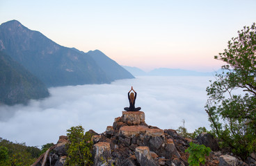
{"type": "Polygon", "coordinates": [[[190,147],[185,151],[189,152],[189,165],[199,166],[200,163],[205,164],[205,155],[209,156],[211,149],[209,147],[205,147],[205,145],[197,145],[193,142],[190,142],[189,145],[190,147]]]}

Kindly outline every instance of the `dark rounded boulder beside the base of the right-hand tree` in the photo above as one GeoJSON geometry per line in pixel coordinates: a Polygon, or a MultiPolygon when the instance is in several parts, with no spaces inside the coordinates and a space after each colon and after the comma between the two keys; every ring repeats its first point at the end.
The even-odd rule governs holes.
{"type": "Polygon", "coordinates": [[[217,140],[210,133],[200,133],[195,140],[198,140],[200,145],[205,145],[205,147],[211,148],[212,151],[218,151],[220,149],[217,140]]]}

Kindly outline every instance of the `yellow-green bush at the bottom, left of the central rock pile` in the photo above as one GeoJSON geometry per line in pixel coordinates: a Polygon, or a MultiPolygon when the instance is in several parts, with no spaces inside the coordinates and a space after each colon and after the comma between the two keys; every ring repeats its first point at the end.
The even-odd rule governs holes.
{"type": "Polygon", "coordinates": [[[90,133],[84,133],[81,125],[67,129],[67,138],[70,144],[67,145],[66,165],[93,165],[92,153],[93,142],[90,133]]]}

